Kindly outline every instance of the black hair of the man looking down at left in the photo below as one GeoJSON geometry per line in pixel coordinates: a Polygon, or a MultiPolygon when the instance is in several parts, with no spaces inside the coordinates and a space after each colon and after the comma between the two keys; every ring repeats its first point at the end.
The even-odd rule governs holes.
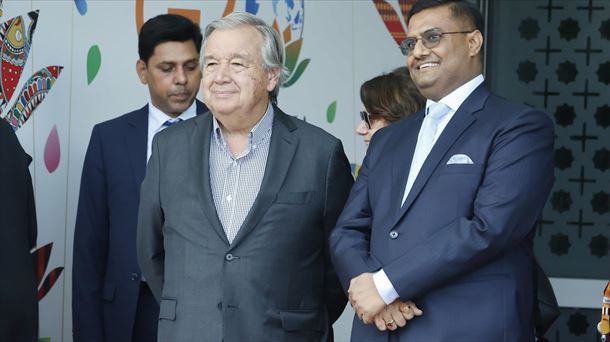
{"type": "Polygon", "coordinates": [[[193,41],[199,53],[203,40],[199,25],[178,14],[161,14],[142,25],[138,35],[138,54],[144,63],[148,63],[157,45],[189,40],[193,41]]]}

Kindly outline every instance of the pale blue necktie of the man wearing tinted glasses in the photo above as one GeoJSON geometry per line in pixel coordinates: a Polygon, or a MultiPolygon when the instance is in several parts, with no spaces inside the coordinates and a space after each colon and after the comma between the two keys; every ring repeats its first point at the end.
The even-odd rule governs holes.
{"type": "Polygon", "coordinates": [[[419,139],[417,139],[417,145],[415,146],[415,152],[413,153],[413,161],[411,162],[411,168],[409,169],[409,178],[407,178],[405,193],[402,196],[402,202],[400,202],[401,207],[405,203],[407,196],[411,191],[411,187],[413,187],[413,183],[415,183],[419,170],[421,170],[430,150],[432,150],[432,146],[434,146],[434,136],[436,135],[438,124],[450,110],[451,108],[440,102],[433,103],[428,107],[428,114],[422,123],[419,139]]]}

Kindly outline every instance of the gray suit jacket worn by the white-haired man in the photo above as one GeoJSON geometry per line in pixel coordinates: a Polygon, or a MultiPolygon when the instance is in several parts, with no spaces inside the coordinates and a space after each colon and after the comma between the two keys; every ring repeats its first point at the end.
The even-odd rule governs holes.
{"type": "Polygon", "coordinates": [[[263,183],[231,245],[210,186],[212,115],[155,137],[137,240],[160,341],[332,339],[346,298],[328,236],[353,183],[349,163],[338,139],[274,110],[263,183]]]}

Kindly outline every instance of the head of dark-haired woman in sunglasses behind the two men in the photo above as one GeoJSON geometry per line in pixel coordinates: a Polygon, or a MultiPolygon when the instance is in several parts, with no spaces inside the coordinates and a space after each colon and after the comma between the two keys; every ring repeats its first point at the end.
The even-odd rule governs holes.
{"type": "Polygon", "coordinates": [[[360,100],[366,110],[360,112],[362,121],[356,127],[356,134],[364,138],[366,145],[377,130],[415,113],[426,104],[407,67],[364,82],[360,87],[360,100]]]}

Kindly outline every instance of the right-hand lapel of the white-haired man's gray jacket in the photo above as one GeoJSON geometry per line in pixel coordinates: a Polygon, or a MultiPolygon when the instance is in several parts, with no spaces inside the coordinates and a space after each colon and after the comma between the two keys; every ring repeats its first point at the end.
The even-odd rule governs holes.
{"type": "Polygon", "coordinates": [[[235,236],[231,247],[237,246],[256,227],[275,200],[277,193],[284,183],[298,146],[298,139],[293,134],[293,131],[296,129],[294,123],[289,120],[288,115],[277,107],[274,106],[273,110],[273,133],[269,142],[265,175],[263,176],[256,200],[235,236]]]}

